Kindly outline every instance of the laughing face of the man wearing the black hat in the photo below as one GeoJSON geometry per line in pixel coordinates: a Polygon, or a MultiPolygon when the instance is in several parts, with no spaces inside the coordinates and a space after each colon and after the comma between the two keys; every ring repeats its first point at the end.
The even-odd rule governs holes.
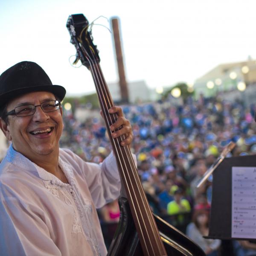
{"type": "MultiPolygon", "coordinates": [[[[49,92],[27,93],[9,102],[7,112],[20,105],[40,105],[51,100],[55,100],[55,96],[49,92]]],[[[58,154],[62,129],[62,109],[45,113],[38,106],[32,116],[9,116],[6,137],[15,150],[32,160],[52,152],[58,154]]]]}

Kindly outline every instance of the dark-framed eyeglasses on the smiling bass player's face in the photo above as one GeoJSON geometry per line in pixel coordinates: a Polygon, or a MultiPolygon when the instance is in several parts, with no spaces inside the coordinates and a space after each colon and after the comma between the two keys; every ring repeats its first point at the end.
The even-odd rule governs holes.
{"type": "Polygon", "coordinates": [[[16,116],[32,116],[35,113],[35,108],[41,106],[41,109],[44,112],[53,112],[60,108],[61,103],[58,102],[58,100],[52,100],[49,102],[43,102],[40,105],[22,105],[19,107],[16,107],[12,111],[9,111],[6,113],[6,116],[9,115],[16,115],[16,116]]]}

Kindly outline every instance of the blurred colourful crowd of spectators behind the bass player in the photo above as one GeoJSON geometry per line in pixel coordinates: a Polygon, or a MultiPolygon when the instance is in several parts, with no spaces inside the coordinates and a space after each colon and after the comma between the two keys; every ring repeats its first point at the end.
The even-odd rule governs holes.
{"type": "MultiPolygon", "coordinates": [[[[175,105],[169,96],[122,108],[133,127],[131,150],[152,211],[196,241],[207,255],[218,255],[221,241],[203,238],[209,232],[212,182],[207,180],[198,189],[196,185],[230,141],[236,147],[228,156],[256,153],[255,106],[203,96],[175,105]]],[[[100,163],[111,151],[100,116],[81,122],[66,111],[64,125],[61,147],[71,148],[84,160],[100,163]]],[[[118,221],[116,202],[100,209],[99,215],[102,222],[118,221]]],[[[234,241],[234,255],[256,255],[246,254],[254,251],[253,246],[234,241]]]]}

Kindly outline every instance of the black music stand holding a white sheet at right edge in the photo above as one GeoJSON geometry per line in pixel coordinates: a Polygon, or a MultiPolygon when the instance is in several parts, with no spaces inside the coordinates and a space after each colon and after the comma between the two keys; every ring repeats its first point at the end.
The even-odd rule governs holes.
{"type": "MultiPolygon", "coordinates": [[[[205,238],[223,239],[223,240],[256,239],[256,229],[254,231],[255,235],[252,233],[250,238],[248,237],[248,233],[247,233],[247,237],[241,237],[243,236],[242,232],[239,234],[239,237],[235,237],[236,235],[234,234],[232,236],[232,224],[233,225],[237,224],[235,222],[232,223],[232,168],[235,166],[256,167],[256,155],[225,158],[222,161],[222,163],[213,172],[212,206],[211,206],[211,212],[210,212],[209,236],[206,236],[205,238]]],[[[250,192],[252,192],[252,190],[250,192]]],[[[256,193],[256,180],[255,180],[255,193],[256,193]]],[[[238,195],[238,198],[239,198],[239,195],[238,195]]],[[[255,198],[251,197],[251,198],[247,198],[247,200],[251,201],[250,207],[254,207],[254,206],[256,207],[256,195],[255,195],[255,198]]],[[[244,205],[243,207],[248,207],[248,206],[244,205]]],[[[245,209],[245,208],[241,208],[241,209],[245,209]]],[[[256,217],[255,217],[255,223],[256,223],[256,217]]]]}

